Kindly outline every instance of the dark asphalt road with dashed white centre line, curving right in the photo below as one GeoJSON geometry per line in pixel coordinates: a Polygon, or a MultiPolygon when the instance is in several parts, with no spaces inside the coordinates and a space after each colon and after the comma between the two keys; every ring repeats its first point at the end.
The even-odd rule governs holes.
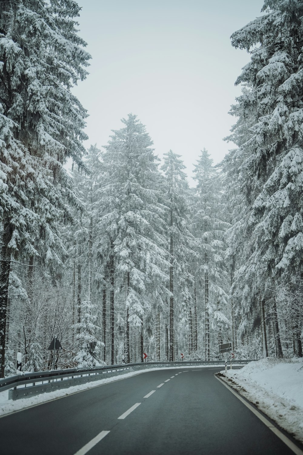
{"type": "Polygon", "coordinates": [[[4,416],[0,454],[293,454],[216,371],[150,371],[4,416]]]}

